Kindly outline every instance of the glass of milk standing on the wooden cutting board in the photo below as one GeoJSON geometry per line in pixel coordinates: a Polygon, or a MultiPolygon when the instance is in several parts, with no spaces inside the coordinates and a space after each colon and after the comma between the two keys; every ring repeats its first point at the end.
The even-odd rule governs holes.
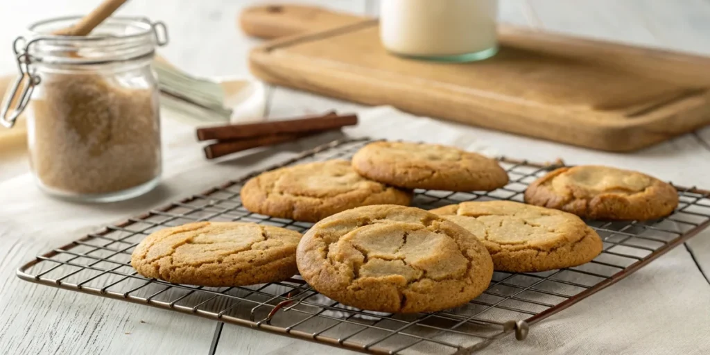
{"type": "Polygon", "coordinates": [[[498,53],[497,0],[383,0],[380,38],[396,55],[472,62],[498,53]]]}

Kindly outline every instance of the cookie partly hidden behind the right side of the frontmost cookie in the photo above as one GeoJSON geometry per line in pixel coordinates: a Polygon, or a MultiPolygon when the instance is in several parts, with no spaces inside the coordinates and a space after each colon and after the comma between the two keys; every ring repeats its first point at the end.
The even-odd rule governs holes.
{"type": "Polygon", "coordinates": [[[569,268],[601,253],[599,234],[574,214],[512,201],[463,202],[430,212],[477,236],[496,271],[569,268]]]}

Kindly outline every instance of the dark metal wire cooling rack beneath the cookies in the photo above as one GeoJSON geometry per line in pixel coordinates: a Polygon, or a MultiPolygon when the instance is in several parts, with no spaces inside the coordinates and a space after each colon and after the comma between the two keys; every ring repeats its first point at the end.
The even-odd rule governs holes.
{"type": "MultiPolygon", "coordinates": [[[[334,141],[279,165],[349,159],[368,140],[334,141]]],[[[562,163],[501,159],[510,183],[492,192],[416,190],[424,209],[470,200],[522,201],[530,182],[562,163]]],[[[261,173],[261,172],[258,172],[261,173]]],[[[203,288],[148,280],[129,262],[148,234],[195,221],[242,221],[305,231],[312,224],[253,214],[241,205],[246,179],[230,181],[54,249],[18,269],[23,280],[143,305],[200,315],[278,334],[381,354],[468,354],[514,333],[525,338],[539,322],[616,283],[682,244],[710,224],[710,192],[677,187],[680,204],[664,219],[589,222],[603,239],[594,261],[544,273],[496,272],[482,295],[453,310],[413,315],[344,307],[310,288],[300,276],[251,287],[203,288]]]]}

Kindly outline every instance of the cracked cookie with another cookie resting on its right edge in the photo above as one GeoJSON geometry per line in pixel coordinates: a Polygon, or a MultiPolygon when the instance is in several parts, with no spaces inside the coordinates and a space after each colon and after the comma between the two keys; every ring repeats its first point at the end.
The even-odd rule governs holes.
{"type": "Polygon", "coordinates": [[[346,160],[272,170],[241,188],[241,202],[249,211],[302,222],[318,222],[354,207],[411,201],[412,192],[363,178],[346,160]]]}

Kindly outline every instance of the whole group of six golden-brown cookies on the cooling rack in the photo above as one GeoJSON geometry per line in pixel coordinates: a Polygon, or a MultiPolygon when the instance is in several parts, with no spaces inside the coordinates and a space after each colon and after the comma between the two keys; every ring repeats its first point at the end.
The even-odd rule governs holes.
{"type": "Polygon", "coordinates": [[[246,209],[317,222],[305,235],[253,223],[185,224],[148,236],[131,264],[148,278],[212,287],[276,282],[298,272],[344,305],[435,312],[480,295],[494,270],[533,273],[591,261],[602,241],[581,218],[656,219],[678,204],[665,182],[584,165],[533,182],[526,203],[408,207],[414,189],[491,191],[507,184],[506,171],[483,155],[370,143],[351,161],[295,165],[246,182],[246,209]]]}

